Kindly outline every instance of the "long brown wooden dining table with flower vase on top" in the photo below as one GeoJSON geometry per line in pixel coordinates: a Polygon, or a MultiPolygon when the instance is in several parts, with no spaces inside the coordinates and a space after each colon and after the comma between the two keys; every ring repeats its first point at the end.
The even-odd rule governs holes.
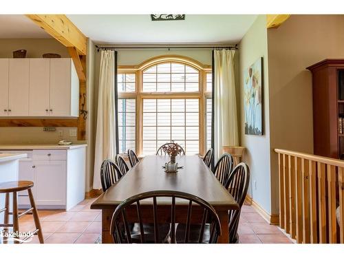
{"type": "MultiPolygon", "coordinates": [[[[222,234],[217,242],[228,243],[228,211],[239,209],[239,205],[233,196],[220,184],[213,172],[208,169],[208,166],[204,164],[199,156],[178,156],[176,162],[178,162],[178,166],[182,166],[182,169],[178,169],[176,173],[164,172],[162,165],[165,162],[169,162],[169,156],[149,155],[142,158],[116,184],[112,185],[92,203],[92,209],[102,211],[102,242],[113,243],[110,235],[110,224],[111,217],[118,204],[139,193],[167,190],[190,193],[211,204],[215,208],[221,223],[222,234]]],[[[182,207],[184,204],[178,204],[176,200],[176,205],[182,207]]],[[[168,209],[166,209],[166,213],[167,211],[168,209]]],[[[168,216],[166,214],[166,217],[162,217],[162,219],[166,219],[168,216]]],[[[178,222],[181,217],[176,215],[175,221],[178,222]]],[[[128,220],[130,221],[130,219],[129,217],[128,220]]],[[[151,219],[153,222],[153,218],[151,219]]],[[[161,221],[161,223],[168,222],[161,221]]],[[[181,223],[181,221],[179,222],[181,223]]]]}

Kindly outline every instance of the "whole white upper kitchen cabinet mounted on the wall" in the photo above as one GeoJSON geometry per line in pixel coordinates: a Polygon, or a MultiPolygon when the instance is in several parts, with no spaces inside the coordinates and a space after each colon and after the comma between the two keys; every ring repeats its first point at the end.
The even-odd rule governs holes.
{"type": "Polygon", "coordinates": [[[0,105],[0,116],[78,117],[72,58],[0,59],[0,105]]]}

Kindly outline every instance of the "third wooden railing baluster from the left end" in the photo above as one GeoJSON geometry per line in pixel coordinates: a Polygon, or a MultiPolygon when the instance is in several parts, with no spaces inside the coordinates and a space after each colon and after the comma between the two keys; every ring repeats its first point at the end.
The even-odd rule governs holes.
{"type": "Polygon", "coordinates": [[[289,164],[289,205],[290,205],[290,237],[295,238],[295,177],[294,177],[294,169],[295,169],[295,162],[292,156],[288,156],[288,164],[289,164]]]}

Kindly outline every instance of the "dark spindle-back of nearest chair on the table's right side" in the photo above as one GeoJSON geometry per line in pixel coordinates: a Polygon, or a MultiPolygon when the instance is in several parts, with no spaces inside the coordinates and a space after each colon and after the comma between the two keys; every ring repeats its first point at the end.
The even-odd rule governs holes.
{"type": "Polygon", "coordinates": [[[248,184],[250,184],[250,169],[244,162],[241,162],[235,166],[226,183],[226,189],[228,189],[228,192],[239,204],[239,210],[231,210],[228,213],[230,243],[237,241],[237,228],[239,226],[241,206],[244,204],[248,184]]]}

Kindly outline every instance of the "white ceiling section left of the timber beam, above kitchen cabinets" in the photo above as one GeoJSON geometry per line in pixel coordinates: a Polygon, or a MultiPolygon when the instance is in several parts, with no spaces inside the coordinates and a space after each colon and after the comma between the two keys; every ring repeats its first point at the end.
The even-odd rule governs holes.
{"type": "Polygon", "coordinates": [[[0,39],[50,38],[43,29],[22,14],[0,15],[0,39]]]}

